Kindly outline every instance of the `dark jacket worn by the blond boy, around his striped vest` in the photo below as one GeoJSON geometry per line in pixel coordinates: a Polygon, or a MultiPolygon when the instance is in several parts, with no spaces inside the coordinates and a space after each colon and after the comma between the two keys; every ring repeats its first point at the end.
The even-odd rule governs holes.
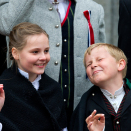
{"type": "MultiPolygon", "coordinates": [[[[97,113],[105,114],[105,131],[113,131],[111,115],[97,86],[93,86],[82,96],[79,105],[72,115],[70,131],[88,131],[85,119],[94,109],[97,110],[97,113]]],[[[121,131],[131,131],[131,90],[123,106],[120,126],[121,131]]]]}

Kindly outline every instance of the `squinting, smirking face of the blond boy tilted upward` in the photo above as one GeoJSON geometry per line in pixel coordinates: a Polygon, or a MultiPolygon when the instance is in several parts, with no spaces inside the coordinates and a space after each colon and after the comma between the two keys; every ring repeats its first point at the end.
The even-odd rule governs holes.
{"type": "Polygon", "coordinates": [[[86,73],[90,81],[95,85],[100,85],[103,82],[113,82],[114,78],[118,77],[119,62],[112,57],[105,47],[96,47],[87,54],[86,73]]]}

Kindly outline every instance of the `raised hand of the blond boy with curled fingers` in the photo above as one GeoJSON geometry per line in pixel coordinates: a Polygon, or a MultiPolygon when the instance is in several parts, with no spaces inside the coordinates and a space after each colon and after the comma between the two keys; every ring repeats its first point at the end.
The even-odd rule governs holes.
{"type": "Polygon", "coordinates": [[[89,131],[103,131],[105,127],[105,116],[104,114],[96,114],[96,110],[94,110],[86,118],[86,123],[89,131]]]}

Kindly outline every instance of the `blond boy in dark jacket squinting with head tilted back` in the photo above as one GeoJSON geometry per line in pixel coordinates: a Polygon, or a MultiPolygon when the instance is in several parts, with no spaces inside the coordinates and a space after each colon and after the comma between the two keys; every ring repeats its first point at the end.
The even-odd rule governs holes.
{"type": "MultiPolygon", "coordinates": [[[[86,122],[93,122],[96,111],[98,114],[102,113],[96,118],[99,121],[97,124],[104,123],[105,115],[105,131],[131,130],[131,91],[128,80],[123,80],[127,70],[126,63],[127,58],[122,50],[111,44],[97,43],[86,50],[84,65],[94,86],[82,96],[75,109],[71,131],[88,130],[86,122]]],[[[91,126],[90,124],[88,128],[92,130],[91,126]]]]}

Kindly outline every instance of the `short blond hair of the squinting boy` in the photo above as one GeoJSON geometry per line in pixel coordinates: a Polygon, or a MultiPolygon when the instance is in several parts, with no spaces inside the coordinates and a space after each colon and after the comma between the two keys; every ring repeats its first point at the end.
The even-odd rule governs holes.
{"type": "Polygon", "coordinates": [[[114,45],[112,45],[112,44],[96,43],[96,44],[93,44],[93,45],[91,45],[90,47],[88,47],[87,50],[85,51],[85,54],[84,54],[84,61],[83,61],[83,62],[84,62],[85,68],[86,68],[86,59],[85,59],[85,58],[86,58],[86,55],[87,55],[87,54],[90,55],[92,49],[98,48],[98,47],[105,47],[105,49],[107,49],[107,51],[110,53],[110,55],[111,55],[112,57],[114,57],[117,62],[118,62],[120,59],[124,59],[124,60],[125,60],[126,66],[125,66],[124,70],[122,71],[123,78],[125,78],[126,72],[127,72],[127,58],[126,58],[124,52],[123,52],[120,48],[118,48],[118,47],[116,47],[116,46],[114,46],[114,45]]]}

